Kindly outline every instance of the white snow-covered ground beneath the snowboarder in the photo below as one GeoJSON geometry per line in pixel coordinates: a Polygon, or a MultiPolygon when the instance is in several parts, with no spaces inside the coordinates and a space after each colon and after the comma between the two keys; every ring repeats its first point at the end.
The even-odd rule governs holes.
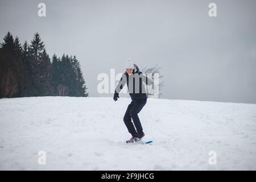
{"type": "Polygon", "coordinates": [[[130,138],[130,98],[25,97],[0,100],[1,170],[256,169],[256,104],[148,99],[144,141],[130,138]],[[46,165],[38,152],[46,152],[46,165]],[[209,151],[217,164],[208,163],[209,151]]]}

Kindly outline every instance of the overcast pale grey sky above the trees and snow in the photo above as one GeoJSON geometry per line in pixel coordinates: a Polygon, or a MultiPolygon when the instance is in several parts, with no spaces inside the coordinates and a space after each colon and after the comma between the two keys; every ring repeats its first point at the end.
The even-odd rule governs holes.
{"type": "Polygon", "coordinates": [[[49,56],[76,55],[90,97],[106,96],[98,74],[124,72],[131,58],[162,67],[162,98],[256,103],[255,9],[255,0],[1,0],[0,38],[10,31],[30,42],[39,32],[49,56]]]}

